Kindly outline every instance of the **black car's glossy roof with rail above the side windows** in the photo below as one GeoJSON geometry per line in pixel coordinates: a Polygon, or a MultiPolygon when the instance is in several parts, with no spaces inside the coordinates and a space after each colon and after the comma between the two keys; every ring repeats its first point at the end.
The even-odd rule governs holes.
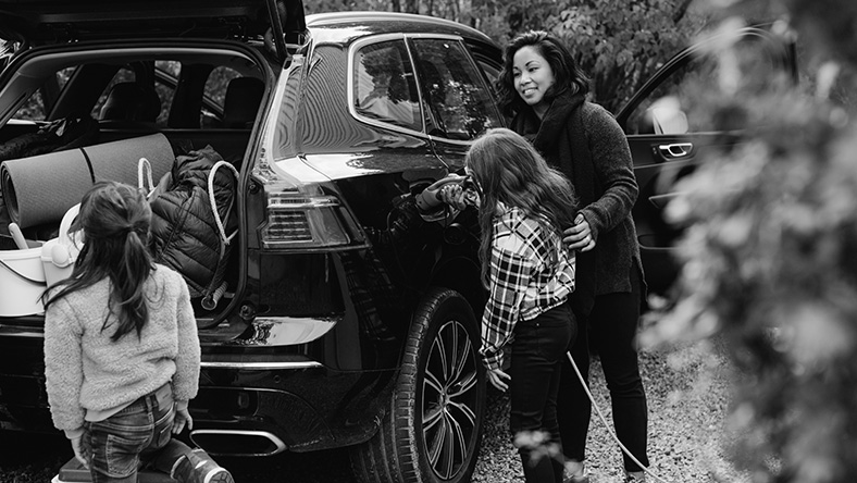
{"type": "Polygon", "coordinates": [[[314,41],[348,44],[386,33],[454,35],[496,45],[482,32],[446,18],[398,12],[331,12],[307,15],[314,41]]]}

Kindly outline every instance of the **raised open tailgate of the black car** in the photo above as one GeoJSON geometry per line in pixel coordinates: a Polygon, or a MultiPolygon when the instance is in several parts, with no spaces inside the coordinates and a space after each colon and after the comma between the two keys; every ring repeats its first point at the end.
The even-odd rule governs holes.
{"type": "Polygon", "coordinates": [[[0,38],[30,44],[261,37],[271,12],[302,30],[301,0],[0,0],[0,38]],[[299,18],[298,18],[299,17],[299,18]]]}

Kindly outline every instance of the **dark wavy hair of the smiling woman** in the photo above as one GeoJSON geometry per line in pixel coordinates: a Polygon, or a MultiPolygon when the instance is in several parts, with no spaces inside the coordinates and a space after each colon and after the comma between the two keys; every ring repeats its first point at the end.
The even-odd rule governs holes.
{"type": "Polygon", "coordinates": [[[504,114],[512,116],[526,106],[514,88],[512,62],[514,54],[524,47],[534,47],[547,60],[556,83],[546,92],[548,101],[560,92],[587,94],[589,78],[572,57],[571,51],[557,38],[544,30],[525,32],[513,38],[504,52],[502,70],[497,78],[497,94],[504,114]]]}

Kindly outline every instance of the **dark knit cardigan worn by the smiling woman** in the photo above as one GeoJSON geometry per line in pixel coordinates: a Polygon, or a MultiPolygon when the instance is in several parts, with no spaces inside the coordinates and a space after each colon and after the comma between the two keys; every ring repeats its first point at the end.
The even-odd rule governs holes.
{"type": "Polygon", "coordinates": [[[541,122],[526,107],[511,127],[531,139],[548,164],[569,177],[579,198],[579,212],[596,240],[593,250],[577,253],[577,285],[572,294],[575,312],[588,314],[596,296],[631,292],[632,267],[643,281],[631,218],[638,188],[628,139],[613,116],[586,102],[583,95],[566,91],[541,122]]]}

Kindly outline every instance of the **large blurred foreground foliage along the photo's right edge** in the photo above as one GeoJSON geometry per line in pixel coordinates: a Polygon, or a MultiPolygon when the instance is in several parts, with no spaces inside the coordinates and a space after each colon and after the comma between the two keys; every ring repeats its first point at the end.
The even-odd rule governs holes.
{"type": "Polygon", "coordinates": [[[857,3],[711,4],[723,33],[781,18],[773,32],[797,38],[802,82],[759,83],[733,44],[720,42],[721,75],[700,82],[687,109],[748,134],[675,187],[683,196],[668,213],[686,226],[678,301],[653,318],[644,342],[726,340],[734,460],[752,481],[854,482],[857,3]]]}

